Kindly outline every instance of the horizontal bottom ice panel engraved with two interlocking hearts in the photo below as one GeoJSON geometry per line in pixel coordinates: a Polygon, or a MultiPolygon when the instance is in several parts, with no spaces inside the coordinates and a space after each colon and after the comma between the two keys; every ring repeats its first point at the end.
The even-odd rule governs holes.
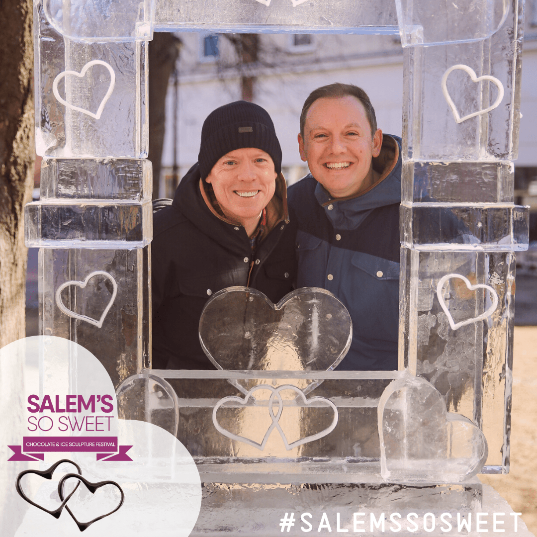
{"type": "MultiPolygon", "coordinates": [[[[337,474],[342,482],[346,482],[344,476],[380,475],[376,407],[384,388],[402,375],[395,371],[376,372],[380,375],[294,371],[277,372],[275,378],[275,372],[264,371],[154,373],[175,389],[179,402],[177,436],[207,470],[337,474]],[[275,385],[271,382],[274,378],[275,385]],[[236,387],[246,382],[256,386],[256,391],[245,395],[236,387]],[[285,383],[300,386],[314,382],[318,385],[306,400],[285,387],[285,383]],[[281,404],[277,390],[282,399],[277,418],[281,431],[272,427],[281,404]],[[271,396],[274,418],[268,408],[271,396]],[[217,426],[212,417],[215,408],[217,426]],[[235,462],[241,464],[234,467],[235,462]],[[284,462],[300,465],[281,467],[284,462]]],[[[254,479],[260,478],[257,475],[254,479]]]]}

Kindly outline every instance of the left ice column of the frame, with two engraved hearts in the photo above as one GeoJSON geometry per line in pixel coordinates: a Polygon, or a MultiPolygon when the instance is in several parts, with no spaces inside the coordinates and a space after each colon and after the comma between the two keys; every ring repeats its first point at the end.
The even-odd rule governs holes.
{"type": "Polygon", "coordinates": [[[67,5],[34,11],[45,157],[40,201],[26,210],[26,244],[41,249],[40,333],[88,349],[118,386],[149,365],[151,35],[143,17],[131,20],[144,15],[143,2],[127,13],[67,5]]]}

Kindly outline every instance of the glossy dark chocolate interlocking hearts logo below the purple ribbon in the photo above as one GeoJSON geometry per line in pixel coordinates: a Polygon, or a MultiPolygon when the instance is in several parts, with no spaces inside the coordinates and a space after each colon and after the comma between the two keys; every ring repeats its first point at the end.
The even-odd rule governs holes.
{"type": "Polygon", "coordinates": [[[121,489],[121,487],[119,486],[118,483],[116,483],[115,481],[99,481],[97,483],[91,483],[85,477],[82,477],[81,468],[75,462],[72,462],[69,459],[62,459],[60,461],[57,461],[50,468],[48,468],[47,470],[24,470],[24,471],[21,471],[21,473],[17,476],[17,481],[15,483],[15,488],[17,489],[17,492],[19,493],[20,497],[23,498],[26,502],[28,502],[30,505],[33,505],[34,507],[37,507],[38,509],[41,509],[41,511],[45,511],[48,514],[52,514],[52,516],[54,518],[60,518],[60,515],[61,515],[61,513],[63,511],[63,508],[65,507],[67,512],[70,514],[72,519],[75,521],[76,525],[78,526],[78,529],[81,532],[83,532],[84,529],[88,528],[88,526],[91,526],[91,524],[93,524],[97,520],[101,520],[101,519],[103,519],[105,517],[109,517],[112,513],[115,513],[123,505],[123,503],[125,501],[125,494],[124,494],[123,490],[121,489]],[[24,490],[22,488],[22,485],[20,484],[20,481],[23,478],[23,476],[25,476],[26,474],[35,474],[35,475],[39,475],[41,477],[44,477],[45,479],[51,479],[52,480],[52,475],[54,474],[54,471],[56,470],[57,467],[59,467],[64,462],[67,462],[67,463],[70,463],[71,465],[73,465],[77,469],[78,473],[77,474],[74,474],[74,473],[66,474],[60,479],[60,482],[58,483],[58,495],[60,496],[61,504],[60,504],[59,507],[57,507],[54,510],[49,510],[49,509],[46,509],[46,507],[43,507],[42,505],[39,505],[38,503],[33,502],[30,498],[28,498],[26,496],[26,494],[25,494],[25,492],[24,492],[24,490]],[[65,492],[63,490],[64,489],[64,484],[69,479],[76,479],[78,482],[75,485],[74,489],[72,489],[71,492],[69,492],[69,494],[67,496],[65,496],[65,492]],[[91,519],[91,520],[89,520],[87,522],[81,522],[81,521],[77,520],[77,518],[75,517],[75,515],[73,514],[73,512],[69,509],[69,506],[67,505],[67,503],[69,502],[69,499],[71,498],[71,496],[73,494],[75,494],[75,491],[78,488],[78,485],[80,483],[84,483],[84,485],[91,492],[91,494],[95,494],[97,489],[100,489],[101,487],[104,487],[105,485],[113,485],[114,487],[116,487],[119,490],[119,492],[121,494],[121,499],[120,499],[118,505],[115,506],[114,509],[112,509],[111,511],[108,511],[105,514],[101,514],[98,517],[95,517],[95,518],[93,518],[93,519],[91,519]]]}

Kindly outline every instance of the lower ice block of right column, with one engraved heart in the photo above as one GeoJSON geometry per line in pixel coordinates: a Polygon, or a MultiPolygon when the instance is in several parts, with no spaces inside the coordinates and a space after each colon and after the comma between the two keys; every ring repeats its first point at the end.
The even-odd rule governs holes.
{"type": "Polygon", "coordinates": [[[482,429],[487,471],[508,468],[514,254],[403,248],[401,266],[400,366],[482,429]]]}

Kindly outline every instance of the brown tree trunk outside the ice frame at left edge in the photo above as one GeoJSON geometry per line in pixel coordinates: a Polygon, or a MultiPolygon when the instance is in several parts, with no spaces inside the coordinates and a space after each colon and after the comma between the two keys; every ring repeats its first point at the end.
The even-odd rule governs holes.
{"type": "Polygon", "coordinates": [[[25,336],[24,205],[34,176],[31,0],[0,0],[0,347],[25,336]]]}

